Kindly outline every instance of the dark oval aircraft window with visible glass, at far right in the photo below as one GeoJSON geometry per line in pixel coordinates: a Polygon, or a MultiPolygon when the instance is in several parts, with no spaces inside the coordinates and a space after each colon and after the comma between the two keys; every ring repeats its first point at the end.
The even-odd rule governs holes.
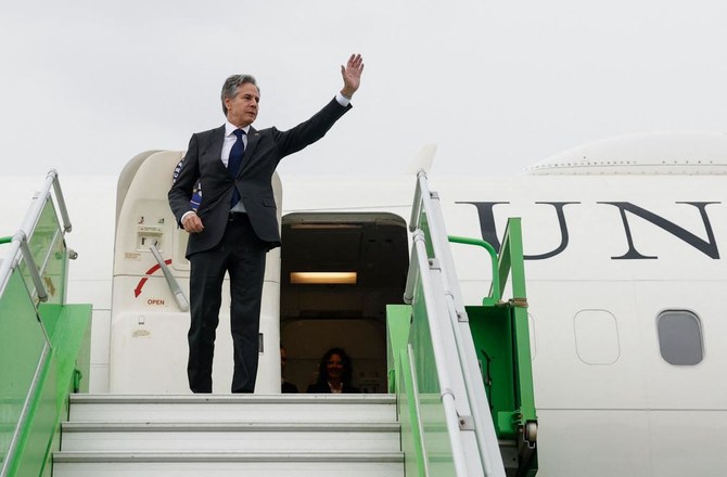
{"type": "Polygon", "coordinates": [[[675,366],[702,362],[702,326],[699,318],[686,310],[662,312],[656,320],[662,358],[675,366]]]}

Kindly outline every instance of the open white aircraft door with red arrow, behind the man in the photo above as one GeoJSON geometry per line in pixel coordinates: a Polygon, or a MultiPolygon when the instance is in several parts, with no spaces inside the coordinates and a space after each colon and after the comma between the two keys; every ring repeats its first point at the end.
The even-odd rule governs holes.
{"type": "MultiPolygon", "coordinates": [[[[119,178],[110,330],[111,392],[189,392],[188,234],[177,227],[167,201],[173,172],[181,158],[180,152],[141,154],[119,178]]],[[[277,175],[272,185],[280,204],[282,188],[277,175]]],[[[279,276],[277,248],[267,256],[256,392],[280,392],[279,276]]],[[[226,278],[215,340],[215,394],[229,394],[232,381],[229,310],[226,278]]]]}

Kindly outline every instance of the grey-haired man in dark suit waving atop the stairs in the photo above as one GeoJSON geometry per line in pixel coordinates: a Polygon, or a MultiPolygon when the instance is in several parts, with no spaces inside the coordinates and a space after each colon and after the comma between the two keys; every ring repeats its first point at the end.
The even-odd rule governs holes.
{"type": "Polygon", "coordinates": [[[256,130],[259,90],[248,75],[222,86],[224,126],[192,134],[169,206],[189,232],[191,324],[187,374],[193,392],[212,392],[215,333],[221,287],[230,274],[230,327],[234,350],[232,392],[253,392],[257,375],[265,254],[280,246],[270,180],[278,163],[322,138],[352,106],[364,72],[360,55],[341,66],[343,89],[310,119],[288,130],[256,130]],[[190,198],[197,181],[202,202],[190,198]]]}

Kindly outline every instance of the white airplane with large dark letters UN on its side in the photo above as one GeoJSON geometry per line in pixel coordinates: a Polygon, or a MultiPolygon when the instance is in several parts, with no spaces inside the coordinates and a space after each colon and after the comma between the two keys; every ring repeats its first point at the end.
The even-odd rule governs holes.
{"type": "MultiPolygon", "coordinates": [[[[521,220],[527,297],[515,306],[527,317],[537,475],[718,472],[727,426],[726,151],[720,133],[632,134],[565,151],[522,176],[469,177],[433,173],[433,151],[424,150],[421,173],[447,234],[498,253],[509,218],[521,220]]],[[[187,237],[166,199],[182,156],[139,154],[119,178],[61,171],[74,221],[68,244],[78,253],[68,300],[93,304],[92,394],[189,392],[187,237]]],[[[5,231],[37,186],[9,182],[5,231]]],[[[313,382],[321,353],[341,346],[359,388],[391,391],[387,306],[405,305],[419,183],[413,175],[275,177],[283,247],[267,259],[256,394],[280,392],[279,344],[298,389],[313,382]],[[316,283],[304,272],[339,276],[316,283]]],[[[490,255],[459,243],[450,249],[455,295],[482,304],[497,274],[490,255]]],[[[222,296],[215,394],[228,392],[231,377],[222,296]]],[[[490,357],[474,352],[487,382],[490,357]]]]}

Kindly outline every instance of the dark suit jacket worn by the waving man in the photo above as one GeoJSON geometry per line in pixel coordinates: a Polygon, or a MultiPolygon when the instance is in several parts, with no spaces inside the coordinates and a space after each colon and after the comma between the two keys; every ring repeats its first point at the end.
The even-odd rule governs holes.
{"type": "Polygon", "coordinates": [[[220,159],[225,126],[192,134],[181,170],[168,194],[171,211],[181,225],[182,216],[192,210],[190,198],[197,179],[202,185],[202,203],[196,214],[204,230],[190,234],[187,257],[208,250],[221,241],[233,186],[240,192],[257,236],[267,242],[268,248],[280,246],[276,202],[270,183],[278,163],[321,139],[349,108],[350,105],[342,106],[333,99],[310,119],[288,131],[279,131],[275,127],[258,131],[251,127],[242,165],[234,179],[220,159]]]}

